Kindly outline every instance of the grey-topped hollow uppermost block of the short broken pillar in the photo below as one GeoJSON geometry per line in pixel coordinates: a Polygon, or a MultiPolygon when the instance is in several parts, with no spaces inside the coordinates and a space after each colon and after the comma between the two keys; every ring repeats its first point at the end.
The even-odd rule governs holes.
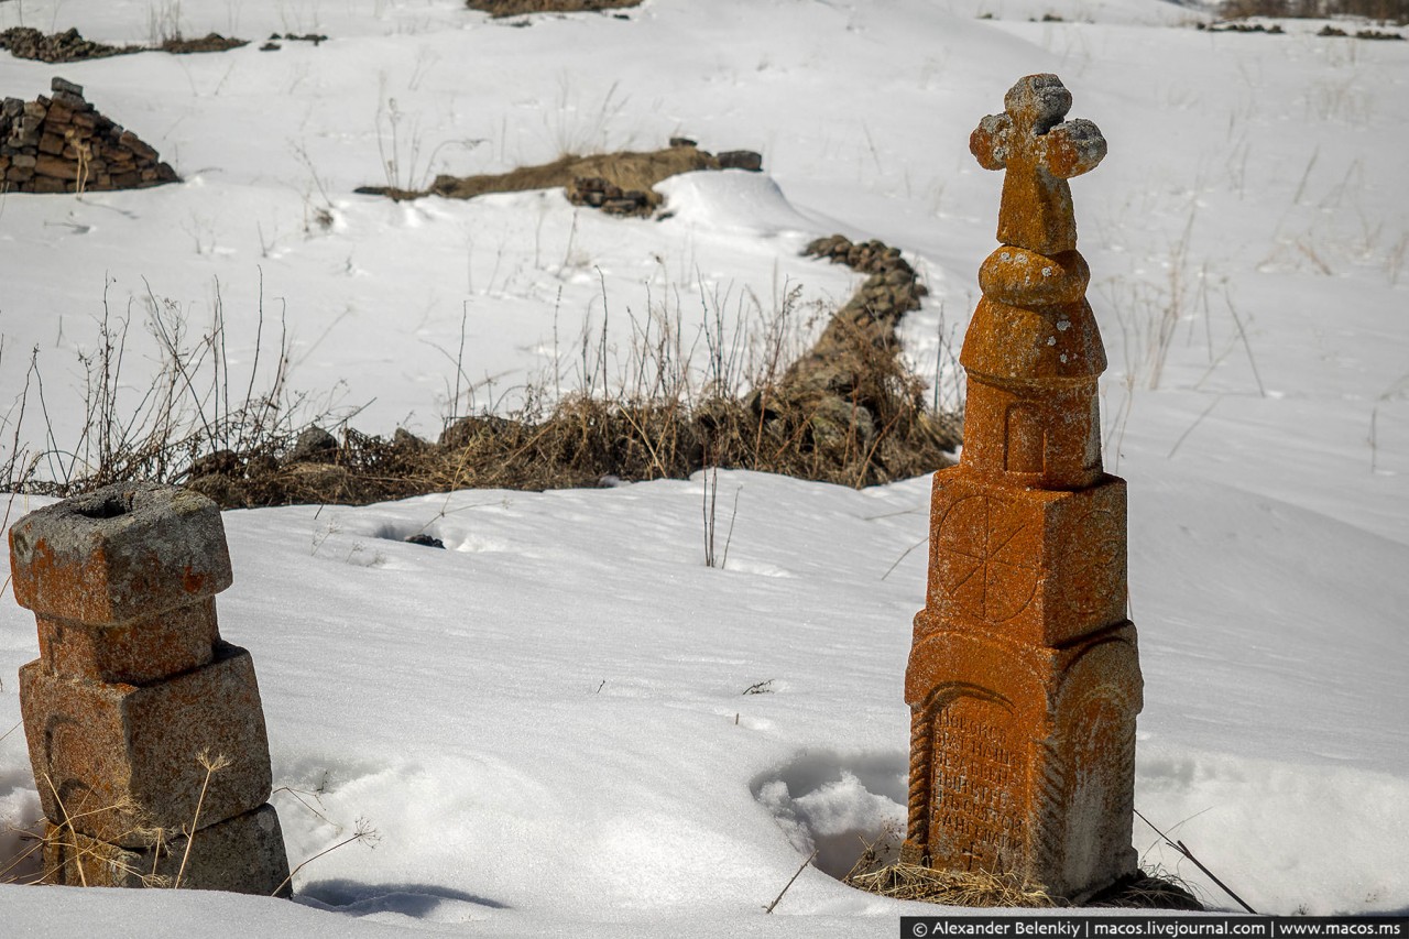
{"type": "Polygon", "coordinates": [[[104,486],[10,527],[14,598],[41,616],[124,623],[230,587],[220,508],[152,482],[104,486]]]}

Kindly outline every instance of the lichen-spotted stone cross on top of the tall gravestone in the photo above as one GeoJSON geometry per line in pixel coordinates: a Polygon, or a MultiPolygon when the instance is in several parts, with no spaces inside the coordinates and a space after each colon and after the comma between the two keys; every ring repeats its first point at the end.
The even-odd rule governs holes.
{"type": "Polygon", "coordinates": [[[998,240],[1043,255],[1076,248],[1076,219],[1067,180],[1106,155],[1106,138],[1088,120],[1062,121],[1071,92],[1055,75],[1029,75],[969,135],[983,169],[1003,169],[998,240]]]}

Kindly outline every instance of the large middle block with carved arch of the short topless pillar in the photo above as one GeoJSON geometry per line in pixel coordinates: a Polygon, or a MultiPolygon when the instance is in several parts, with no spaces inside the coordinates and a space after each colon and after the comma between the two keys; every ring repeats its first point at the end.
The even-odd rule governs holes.
{"type": "Polygon", "coordinates": [[[234,818],[272,788],[269,742],[249,653],[221,644],[209,665],[154,685],[99,684],[20,670],[20,709],[44,814],[123,847],[172,840],[196,818],[234,818]]]}

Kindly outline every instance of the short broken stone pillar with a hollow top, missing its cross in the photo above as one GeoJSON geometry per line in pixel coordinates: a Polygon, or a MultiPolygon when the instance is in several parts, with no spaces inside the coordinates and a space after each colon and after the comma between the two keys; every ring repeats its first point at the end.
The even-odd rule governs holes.
{"type": "Polygon", "coordinates": [[[46,883],[289,895],[254,664],[216,623],[216,503],[111,485],[20,519],[10,565],[39,627],[20,711],[46,883]]]}

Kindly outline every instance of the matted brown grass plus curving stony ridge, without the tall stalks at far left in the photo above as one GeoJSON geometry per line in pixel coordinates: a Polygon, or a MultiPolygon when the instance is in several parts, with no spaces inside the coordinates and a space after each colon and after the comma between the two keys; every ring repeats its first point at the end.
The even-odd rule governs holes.
{"type": "MultiPolygon", "coordinates": [[[[462,417],[435,443],[345,430],[317,462],[230,451],[199,461],[186,482],[224,506],[255,506],[679,479],[709,467],[865,486],[950,465],[961,417],[926,407],[926,385],[895,334],[903,313],[919,307],[914,271],[899,251],[840,235],[809,254],[871,276],[805,354],[786,354],[782,333],[769,329],[771,350],[747,378],[716,362],[714,375],[735,378],[716,378],[700,392],[668,348],[643,348],[633,352],[643,375],[633,389],[592,385],[519,413],[462,417]]],[[[778,312],[779,323],[796,319],[795,299],[778,312]]]]}

